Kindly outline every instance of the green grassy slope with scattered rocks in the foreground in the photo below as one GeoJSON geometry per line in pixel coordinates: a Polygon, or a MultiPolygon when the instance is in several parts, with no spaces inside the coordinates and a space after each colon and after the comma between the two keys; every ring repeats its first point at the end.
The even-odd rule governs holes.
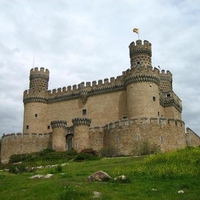
{"type": "Polygon", "coordinates": [[[197,200],[200,196],[200,147],[137,158],[110,158],[73,162],[61,170],[45,168],[35,173],[0,172],[0,199],[79,200],[197,200]],[[130,183],[87,182],[103,170],[110,176],[125,175],[130,183]],[[50,179],[33,179],[34,174],[54,172],[50,179]],[[183,190],[184,194],[178,194],[183,190]]]}

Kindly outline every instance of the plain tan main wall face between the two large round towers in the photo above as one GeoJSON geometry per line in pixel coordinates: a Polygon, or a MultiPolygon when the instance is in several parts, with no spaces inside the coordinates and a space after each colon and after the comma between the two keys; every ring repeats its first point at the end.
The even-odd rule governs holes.
{"type": "Polygon", "coordinates": [[[90,96],[85,104],[81,98],[50,103],[48,104],[48,116],[49,121],[66,120],[68,126],[71,126],[71,120],[77,117],[92,119],[91,127],[103,126],[108,121],[127,117],[126,91],[90,96]]]}

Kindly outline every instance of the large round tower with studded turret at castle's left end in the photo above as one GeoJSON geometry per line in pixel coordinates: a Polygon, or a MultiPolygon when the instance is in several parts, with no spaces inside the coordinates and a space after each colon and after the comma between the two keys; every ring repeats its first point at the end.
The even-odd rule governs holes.
{"type": "Polygon", "coordinates": [[[30,70],[29,90],[24,92],[24,133],[50,132],[47,112],[49,70],[37,67],[30,70]]]}

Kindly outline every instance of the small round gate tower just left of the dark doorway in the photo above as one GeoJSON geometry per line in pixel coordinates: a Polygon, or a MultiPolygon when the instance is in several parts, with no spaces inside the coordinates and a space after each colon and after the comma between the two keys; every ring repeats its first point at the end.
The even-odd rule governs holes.
{"type": "Polygon", "coordinates": [[[52,148],[56,151],[66,151],[66,128],[67,122],[57,120],[51,122],[52,127],[52,148]]]}

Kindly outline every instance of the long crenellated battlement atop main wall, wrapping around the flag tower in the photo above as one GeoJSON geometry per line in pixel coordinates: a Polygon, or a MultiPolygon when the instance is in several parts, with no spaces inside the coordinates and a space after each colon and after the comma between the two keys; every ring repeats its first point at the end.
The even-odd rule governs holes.
{"type": "Polygon", "coordinates": [[[57,89],[48,90],[47,95],[46,93],[40,93],[40,95],[38,96],[37,92],[34,92],[32,90],[26,90],[24,91],[24,98],[28,98],[30,101],[39,101],[38,99],[41,98],[41,101],[43,102],[46,102],[46,98],[48,98],[49,102],[55,102],[59,101],[59,99],[67,100],[79,98],[81,96],[81,93],[83,92],[86,92],[88,96],[92,96],[101,93],[124,90],[125,85],[127,85],[128,82],[127,79],[131,79],[129,80],[131,82],[155,82],[159,85],[159,77],[161,75],[170,76],[171,73],[169,71],[165,72],[163,70],[162,72],[160,72],[160,70],[156,67],[152,68],[147,66],[141,66],[132,69],[127,69],[126,71],[122,72],[122,75],[117,76],[116,78],[111,77],[100,79],[98,81],[81,82],[77,85],[69,85],[62,88],[60,87],[57,89]]]}

